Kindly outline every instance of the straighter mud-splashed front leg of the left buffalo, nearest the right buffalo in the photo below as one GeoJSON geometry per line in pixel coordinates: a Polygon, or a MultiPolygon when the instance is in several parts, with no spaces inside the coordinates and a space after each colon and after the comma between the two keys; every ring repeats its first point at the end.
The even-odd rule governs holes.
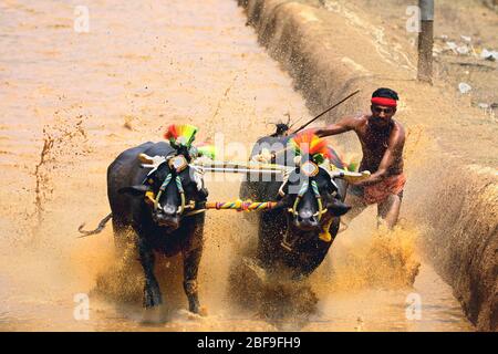
{"type": "Polygon", "coordinates": [[[199,293],[197,287],[197,271],[199,270],[203,248],[184,250],[184,290],[188,299],[188,310],[199,313],[199,293]]]}

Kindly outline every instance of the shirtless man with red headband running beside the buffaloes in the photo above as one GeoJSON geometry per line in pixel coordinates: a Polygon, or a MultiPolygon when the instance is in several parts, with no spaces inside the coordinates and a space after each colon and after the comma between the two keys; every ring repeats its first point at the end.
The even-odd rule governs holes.
{"type": "Polygon", "coordinates": [[[354,131],[362,145],[360,171],[370,170],[372,175],[350,187],[345,200],[352,206],[345,215],[349,220],[376,204],[377,220],[390,229],[396,225],[406,181],[403,174],[405,129],[393,119],[397,100],[393,90],[378,88],[372,94],[372,114],[345,117],[315,131],[320,137],[354,131]]]}

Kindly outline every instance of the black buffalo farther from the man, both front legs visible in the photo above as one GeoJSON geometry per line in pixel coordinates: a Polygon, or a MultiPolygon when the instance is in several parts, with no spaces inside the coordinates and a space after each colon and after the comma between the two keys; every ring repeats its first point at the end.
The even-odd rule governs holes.
{"type": "Polygon", "coordinates": [[[187,148],[174,148],[163,142],[145,143],[120,154],[107,168],[107,196],[112,214],[96,231],[86,231],[86,235],[98,232],[105,221],[112,218],[115,242],[120,249],[125,231],[133,228],[137,235],[139,261],[145,273],[146,308],[162,303],[159,284],[154,274],[155,251],[166,257],[181,252],[184,290],[189,310],[199,313],[197,271],[203,253],[203,210],[208,192],[194,167],[183,164],[184,169],[180,170],[172,158],[179,158],[180,163],[190,162],[187,148]],[[143,162],[138,159],[141,154],[163,156],[166,160],[156,170],[151,170],[143,168],[143,162]],[[169,183],[165,184],[167,178],[169,183]],[[154,202],[160,188],[164,190],[154,202]],[[181,205],[185,205],[184,209],[181,205]]]}

